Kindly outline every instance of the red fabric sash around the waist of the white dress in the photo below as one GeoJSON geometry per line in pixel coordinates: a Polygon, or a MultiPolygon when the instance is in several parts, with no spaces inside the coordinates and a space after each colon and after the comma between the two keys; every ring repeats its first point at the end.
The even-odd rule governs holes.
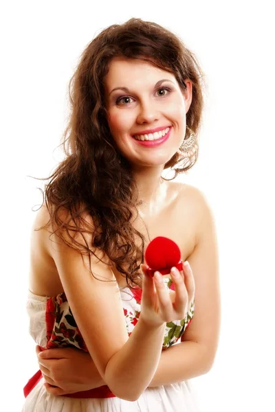
{"type": "MultiPolygon", "coordinates": [[[[41,370],[39,369],[39,371],[37,371],[36,374],[34,374],[34,376],[32,376],[30,380],[28,380],[27,385],[25,385],[23,389],[25,398],[27,398],[28,394],[32,391],[32,389],[34,389],[34,387],[38,384],[41,378],[42,378],[42,374],[41,374],[41,370]]],[[[63,395],[63,396],[67,396],[67,398],[81,398],[81,399],[84,399],[84,398],[115,398],[115,395],[113,394],[113,392],[111,392],[111,390],[109,389],[109,387],[107,387],[107,385],[104,385],[102,387],[98,387],[95,389],[89,389],[89,391],[68,393],[67,395],[63,395]]]]}

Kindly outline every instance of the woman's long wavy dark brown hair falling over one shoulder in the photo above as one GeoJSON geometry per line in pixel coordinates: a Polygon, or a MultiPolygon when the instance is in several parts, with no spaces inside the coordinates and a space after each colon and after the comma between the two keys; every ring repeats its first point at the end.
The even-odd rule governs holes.
{"type": "MultiPolygon", "coordinates": [[[[104,77],[111,59],[116,56],[142,59],[173,73],[182,91],[186,88],[184,80],[190,80],[192,103],[186,114],[185,139],[189,137],[189,129],[195,135],[199,131],[203,72],[195,55],[175,34],[156,23],[130,19],[122,25],[111,25],[87,45],[69,81],[71,110],[61,140],[65,159],[53,174],[40,179],[49,181],[41,191],[50,220],[36,230],[52,223],[51,227],[57,229],[51,233],[56,233],[81,255],[89,255],[90,270],[91,253],[96,255],[95,251],[100,250],[108,257],[109,265],[126,277],[128,286],[140,286],[145,238],[132,225],[133,211],[137,212],[137,196],[134,196],[137,185],[129,161],[115,146],[104,103],[104,77]],[[66,221],[61,219],[62,209],[69,216],[66,221]],[[83,217],[85,214],[91,216],[92,225],[83,217]],[[65,232],[71,242],[65,239],[65,232]],[[91,235],[91,244],[83,233],[91,235]],[[85,242],[78,242],[76,234],[85,242]]],[[[164,169],[175,170],[175,176],[165,180],[173,180],[190,169],[197,155],[180,168],[182,160],[182,156],[175,153],[165,164],[164,169]]]]}

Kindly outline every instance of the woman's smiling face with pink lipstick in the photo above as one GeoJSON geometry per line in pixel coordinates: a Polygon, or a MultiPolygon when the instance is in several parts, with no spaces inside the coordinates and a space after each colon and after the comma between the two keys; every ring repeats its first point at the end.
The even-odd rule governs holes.
{"type": "Polygon", "coordinates": [[[109,128],[133,166],[164,166],[181,146],[192,100],[186,86],[181,91],[172,73],[143,60],[111,60],[104,81],[109,128]]]}

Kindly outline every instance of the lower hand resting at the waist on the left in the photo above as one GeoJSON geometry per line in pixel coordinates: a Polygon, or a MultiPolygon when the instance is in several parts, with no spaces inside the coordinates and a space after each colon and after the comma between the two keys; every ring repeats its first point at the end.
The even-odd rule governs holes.
{"type": "Polygon", "coordinates": [[[53,395],[88,391],[105,385],[87,352],[72,347],[41,351],[36,346],[45,388],[53,395]]]}

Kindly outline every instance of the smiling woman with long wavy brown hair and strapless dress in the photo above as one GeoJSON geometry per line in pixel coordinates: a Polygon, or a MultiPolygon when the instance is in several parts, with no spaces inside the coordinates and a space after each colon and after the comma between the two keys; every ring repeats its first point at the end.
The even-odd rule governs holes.
{"type": "Polygon", "coordinates": [[[66,157],[32,232],[43,378],[23,411],[196,411],[188,379],[210,370],[219,334],[217,239],[201,191],[162,172],[197,160],[201,69],[177,36],[131,19],[91,41],[72,80],[66,157]],[[183,271],[148,276],[157,236],[183,271]]]}

